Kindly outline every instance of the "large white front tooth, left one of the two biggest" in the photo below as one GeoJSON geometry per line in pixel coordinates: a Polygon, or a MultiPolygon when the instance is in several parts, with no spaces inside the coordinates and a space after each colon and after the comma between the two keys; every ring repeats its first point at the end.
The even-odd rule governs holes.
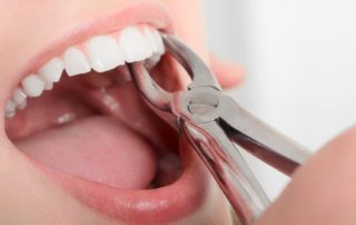
{"type": "Polygon", "coordinates": [[[91,68],[98,72],[125,65],[123,52],[111,37],[93,37],[88,41],[87,48],[91,68]]]}

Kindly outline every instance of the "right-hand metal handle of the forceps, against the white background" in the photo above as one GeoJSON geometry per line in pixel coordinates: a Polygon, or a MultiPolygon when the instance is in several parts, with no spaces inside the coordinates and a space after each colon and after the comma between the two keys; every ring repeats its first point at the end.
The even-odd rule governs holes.
{"type": "Polygon", "coordinates": [[[229,96],[220,98],[220,126],[245,150],[290,176],[309,157],[305,147],[271,128],[229,96]]]}

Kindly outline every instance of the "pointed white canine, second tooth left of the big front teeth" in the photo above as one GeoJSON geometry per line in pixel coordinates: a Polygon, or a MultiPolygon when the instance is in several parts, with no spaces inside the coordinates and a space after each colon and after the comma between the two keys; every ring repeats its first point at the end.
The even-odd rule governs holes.
{"type": "Polygon", "coordinates": [[[53,58],[43,65],[38,74],[46,82],[58,82],[63,69],[63,61],[59,58],[53,58]]]}

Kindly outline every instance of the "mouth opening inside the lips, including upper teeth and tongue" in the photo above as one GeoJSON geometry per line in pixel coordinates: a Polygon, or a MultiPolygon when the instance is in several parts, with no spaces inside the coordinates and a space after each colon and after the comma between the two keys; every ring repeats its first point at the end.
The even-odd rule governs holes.
{"type": "Polygon", "coordinates": [[[111,187],[140,189],[172,182],[162,174],[172,173],[169,179],[180,174],[177,139],[149,111],[126,68],[146,61],[164,70],[158,65],[168,63],[160,60],[164,52],[159,32],[147,26],[69,47],[13,90],[6,108],[6,117],[13,117],[7,121],[9,138],[51,168],[111,187]],[[174,170],[162,170],[159,165],[166,164],[174,170]]]}

